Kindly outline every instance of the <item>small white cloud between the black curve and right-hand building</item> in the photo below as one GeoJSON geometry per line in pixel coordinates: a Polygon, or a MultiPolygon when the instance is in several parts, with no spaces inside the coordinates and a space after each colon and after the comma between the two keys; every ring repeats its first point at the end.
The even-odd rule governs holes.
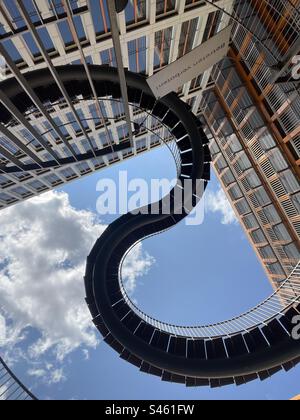
{"type": "Polygon", "coordinates": [[[221,223],[223,225],[237,223],[237,218],[231,204],[221,188],[216,192],[208,191],[206,193],[205,208],[207,212],[220,213],[222,217],[221,223]]]}

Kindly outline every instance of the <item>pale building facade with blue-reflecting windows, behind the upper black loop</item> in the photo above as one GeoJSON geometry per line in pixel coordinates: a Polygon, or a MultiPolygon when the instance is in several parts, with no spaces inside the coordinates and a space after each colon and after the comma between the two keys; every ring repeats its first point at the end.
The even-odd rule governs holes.
{"type": "MultiPolygon", "coordinates": [[[[7,78],[49,67],[49,63],[53,67],[80,64],[82,56],[89,64],[117,65],[106,0],[68,3],[71,19],[60,0],[1,2],[0,55],[9,60],[7,78]]],[[[225,3],[230,7],[232,1],[226,0],[225,3]]],[[[215,23],[214,16],[213,7],[199,1],[130,1],[118,17],[124,66],[133,72],[153,74],[200,44],[207,26],[215,23]]],[[[209,32],[213,35],[217,29],[214,26],[209,32]]],[[[209,73],[206,77],[201,75],[180,89],[183,99],[194,110],[199,107],[199,92],[208,79],[209,73]]],[[[32,164],[36,158],[43,162],[53,160],[52,152],[55,151],[55,156],[65,159],[72,156],[72,152],[80,155],[98,151],[111,144],[114,147],[128,138],[122,103],[102,98],[96,106],[92,99],[80,101],[79,98],[74,109],[70,109],[67,99],[46,104],[44,111],[52,121],[33,106],[26,115],[28,125],[10,117],[6,127],[0,126],[3,167],[10,165],[14,157],[21,164],[32,164]]],[[[9,112],[9,109],[6,111],[9,112]]],[[[3,174],[0,178],[0,208],[161,145],[160,138],[168,135],[161,126],[150,118],[145,120],[139,109],[130,107],[130,112],[134,122],[146,121],[146,127],[136,138],[133,148],[116,153],[112,151],[84,164],[73,163],[62,170],[3,174]],[[154,133],[147,134],[147,128],[154,133]]]]}

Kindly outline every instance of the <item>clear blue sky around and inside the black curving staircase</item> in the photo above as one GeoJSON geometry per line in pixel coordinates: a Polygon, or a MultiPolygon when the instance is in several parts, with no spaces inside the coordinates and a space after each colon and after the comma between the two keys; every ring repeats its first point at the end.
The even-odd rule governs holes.
{"type": "MultiPolygon", "coordinates": [[[[147,180],[151,177],[172,179],[175,176],[174,164],[168,152],[156,150],[65,186],[60,191],[69,195],[69,204],[74,211],[88,210],[95,213],[99,195],[96,191],[97,181],[100,177],[117,180],[120,170],[128,170],[129,178],[143,177],[147,180]]],[[[210,196],[216,197],[219,189],[217,180],[213,178],[209,189],[210,196]]],[[[50,208],[50,204],[46,204],[50,208]]],[[[210,209],[213,210],[211,206],[210,209]]],[[[232,219],[232,223],[225,224],[224,214],[214,210],[207,212],[203,225],[188,227],[182,223],[173,230],[144,242],[143,254],[139,257],[148,258],[151,268],[145,269],[144,275],[136,280],[133,296],[139,307],[149,315],[180,325],[207,324],[238,315],[271,293],[265,273],[241,227],[232,219]]],[[[227,210],[230,210],[229,207],[227,210]]],[[[25,213],[23,211],[23,218],[25,213]]],[[[41,216],[44,214],[47,212],[43,212],[41,216]]],[[[111,216],[101,217],[103,224],[108,224],[111,220],[111,216]]],[[[90,221],[85,221],[91,225],[90,221]]],[[[97,221],[99,222],[99,219],[97,221]]],[[[64,234],[67,233],[64,233],[63,229],[62,227],[60,232],[56,233],[62,237],[57,236],[58,241],[68,240],[64,238],[64,234]]],[[[49,230],[49,236],[52,233],[49,230]]],[[[46,237],[43,240],[47,242],[46,237]]],[[[78,247],[75,243],[67,245],[74,249],[78,247]]],[[[77,256],[75,251],[76,249],[72,258],[76,259],[80,256],[77,256]]],[[[69,263],[68,260],[71,261],[70,255],[69,251],[68,257],[63,260],[64,268],[69,263]]],[[[75,273],[75,292],[76,299],[81,302],[84,299],[81,262],[78,263],[78,267],[80,268],[75,273]]],[[[59,283],[57,291],[59,294],[59,283]]],[[[41,299],[40,296],[39,298],[41,299]]],[[[37,304],[43,305],[43,300],[37,304]]],[[[55,316],[53,311],[53,318],[55,316]]],[[[81,319],[79,315],[78,317],[81,319]]],[[[13,321],[7,320],[7,329],[13,321]]],[[[59,319],[57,321],[59,322],[59,319]]],[[[37,320],[33,328],[27,326],[24,339],[13,344],[14,368],[25,378],[27,384],[32,385],[39,398],[267,400],[289,399],[299,393],[299,368],[287,374],[279,373],[264,383],[254,382],[239,388],[186,389],[182,385],[162,383],[158,378],[141,374],[135,367],[119,359],[105,343],[95,347],[93,339],[89,341],[89,337],[85,335],[86,328],[85,326],[84,332],[81,331],[79,338],[75,330],[66,329],[79,343],[82,340],[82,345],[75,346],[74,350],[59,362],[57,353],[54,354],[53,351],[54,345],[51,347],[50,344],[47,351],[38,354],[33,354],[31,347],[30,365],[25,360],[29,353],[23,353],[23,350],[25,352],[26,348],[28,351],[29,343],[37,342],[42,335],[43,324],[39,324],[37,320]],[[49,372],[52,372],[51,381],[49,372]],[[48,379],[45,379],[46,376],[48,379]]],[[[46,334],[47,332],[44,333],[45,336],[46,334]]],[[[97,339],[101,339],[95,331],[91,330],[90,334],[95,334],[97,339]]],[[[55,337],[52,340],[55,341],[55,337]]],[[[8,348],[11,350],[12,345],[8,348]]]]}

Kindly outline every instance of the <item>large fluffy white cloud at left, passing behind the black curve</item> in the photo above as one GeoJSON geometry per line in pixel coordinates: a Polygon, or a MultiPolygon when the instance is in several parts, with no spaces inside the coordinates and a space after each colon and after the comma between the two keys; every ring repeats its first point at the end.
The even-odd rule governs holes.
{"type": "MultiPolygon", "coordinates": [[[[80,347],[95,348],[98,334],[84,301],[83,276],[86,257],[106,226],[55,192],[1,211],[0,226],[0,347],[13,353],[21,342],[31,361],[50,354],[63,361],[80,347]],[[38,337],[32,339],[31,328],[38,337]]],[[[130,293],[152,263],[141,245],[129,255],[124,280],[130,293]]],[[[42,370],[30,373],[38,377],[42,370]]],[[[64,379],[52,366],[46,373],[51,383],[64,379]]]]}

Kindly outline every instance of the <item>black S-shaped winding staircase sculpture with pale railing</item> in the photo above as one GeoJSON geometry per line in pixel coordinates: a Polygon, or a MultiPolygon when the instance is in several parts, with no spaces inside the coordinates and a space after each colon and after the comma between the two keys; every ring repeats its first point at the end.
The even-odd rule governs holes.
{"type": "MultiPolygon", "coordinates": [[[[89,69],[99,98],[121,98],[117,69],[89,69]]],[[[79,96],[90,99],[83,66],[58,67],[57,72],[74,101],[79,96]]],[[[26,74],[26,78],[42,102],[49,97],[52,101],[61,98],[49,70],[26,74]]],[[[211,160],[199,120],[176,94],[157,101],[143,76],[126,72],[126,79],[130,103],[157,118],[176,142],[178,180],[191,181],[186,200],[196,206],[201,199],[196,184],[201,180],[206,188],[211,160]]],[[[16,82],[8,81],[3,87],[20,111],[32,106],[26,96],[17,100],[22,88],[16,82]]],[[[139,215],[122,216],[98,239],[88,257],[85,276],[87,303],[95,325],[105,341],[141,371],[187,386],[240,385],[291,369],[300,360],[300,340],[293,334],[294,320],[300,313],[299,266],[265,302],[216,325],[169,325],[142,313],[127,296],[120,274],[128,250],[138,241],[170,229],[191,211],[186,201],[178,206],[175,200],[181,186],[178,183],[170,192],[169,214],[163,213],[162,202],[157,203],[158,214],[152,214],[149,205],[139,215]]]]}

